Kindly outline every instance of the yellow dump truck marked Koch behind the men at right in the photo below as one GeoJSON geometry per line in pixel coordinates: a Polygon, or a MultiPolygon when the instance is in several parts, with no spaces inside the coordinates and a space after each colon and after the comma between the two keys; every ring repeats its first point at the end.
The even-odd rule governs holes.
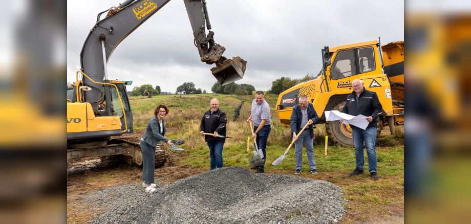
{"type": "MultiPolygon", "coordinates": [[[[365,88],[376,92],[382,105],[378,118],[378,134],[389,124],[404,122],[404,41],[380,46],[379,40],[346,44],[322,49],[323,68],[316,78],[299,83],[280,94],[276,115],[283,126],[289,127],[293,106],[299,96],[307,95],[319,115],[319,123],[326,123],[326,132],[333,142],[353,147],[349,125],[340,121],[326,122],[326,110],[340,110],[352,93],[352,81],[361,79],[365,88]]],[[[379,137],[379,135],[378,135],[379,137]]]]}

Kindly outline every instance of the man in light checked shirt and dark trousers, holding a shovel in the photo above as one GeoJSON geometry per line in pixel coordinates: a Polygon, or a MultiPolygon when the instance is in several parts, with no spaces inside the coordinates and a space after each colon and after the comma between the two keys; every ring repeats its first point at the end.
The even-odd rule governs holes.
{"type": "MultiPolygon", "coordinates": [[[[263,152],[263,160],[266,158],[266,146],[268,135],[271,130],[271,113],[270,106],[267,101],[263,99],[263,92],[257,91],[255,93],[255,99],[252,101],[252,110],[250,116],[247,119],[247,123],[250,120],[253,122],[253,136],[255,142],[259,146],[259,149],[263,152]]],[[[265,171],[265,162],[257,167],[257,173],[263,173],[265,171]]]]}

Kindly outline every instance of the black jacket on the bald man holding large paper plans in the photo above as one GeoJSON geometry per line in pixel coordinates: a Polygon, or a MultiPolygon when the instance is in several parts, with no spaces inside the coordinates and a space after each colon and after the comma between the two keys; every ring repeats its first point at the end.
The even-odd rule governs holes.
{"type": "MultiPolygon", "coordinates": [[[[353,116],[371,116],[373,117],[373,121],[368,124],[368,127],[376,127],[378,124],[376,118],[378,118],[382,113],[382,106],[379,102],[378,95],[376,95],[375,92],[366,90],[365,87],[363,87],[363,92],[361,92],[358,99],[356,97],[355,91],[348,95],[344,108],[341,109],[340,112],[353,116]]],[[[351,126],[356,127],[354,125],[351,126]]]]}

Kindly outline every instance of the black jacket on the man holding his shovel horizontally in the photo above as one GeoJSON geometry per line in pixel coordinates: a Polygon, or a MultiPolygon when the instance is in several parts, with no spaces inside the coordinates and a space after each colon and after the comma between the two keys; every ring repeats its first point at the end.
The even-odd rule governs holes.
{"type": "MultiPolygon", "coordinates": [[[[201,119],[200,130],[206,133],[218,132],[221,136],[226,136],[226,113],[221,109],[214,111],[211,114],[211,110],[204,113],[203,118],[201,119]]],[[[204,141],[206,142],[226,142],[225,138],[217,138],[213,136],[204,136],[204,141]]]]}

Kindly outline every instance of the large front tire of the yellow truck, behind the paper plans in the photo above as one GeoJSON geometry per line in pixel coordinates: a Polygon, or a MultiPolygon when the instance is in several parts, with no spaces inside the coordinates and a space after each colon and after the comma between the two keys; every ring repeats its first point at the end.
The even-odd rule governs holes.
{"type": "MultiPolygon", "coordinates": [[[[332,110],[340,110],[343,106],[344,103],[339,103],[332,110]]],[[[379,118],[377,121],[378,126],[376,130],[376,142],[378,142],[382,130],[382,121],[379,118]]],[[[326,122],[326,132],[329,138],[335,144],[342,147],[355,147],[353,144],[352,129],[350,126],[347,126],[340,121],[328,121],[326,122]]]]}

